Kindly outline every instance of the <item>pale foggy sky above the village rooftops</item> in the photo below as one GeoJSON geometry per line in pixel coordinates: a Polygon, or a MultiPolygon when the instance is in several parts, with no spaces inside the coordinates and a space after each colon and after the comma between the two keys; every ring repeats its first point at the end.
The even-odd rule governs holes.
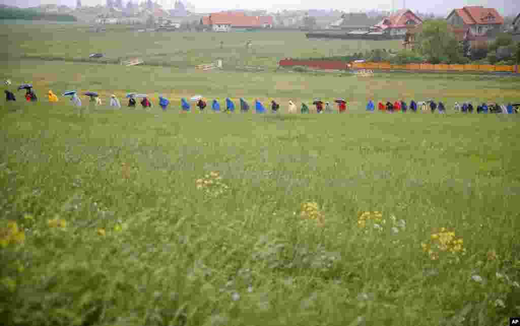
{"type": "MultiPolygon", "coordinates": [[[[128,0],[123,0],[126,3],[128,0]]],[[[144,0],[132,0],[134,3],[144,0]]],[[[454,8],[463,6],[485,6],[496,8],[502,15],[517,15],[520,12],[520,0],[363,0],[363,1],[339,1],[339,0],[263,0],[259,1],[239,1],[239,0],[220,0],[218,7],[215,7],[213,0],[189,0],[188,10],[193,12],[207,12],[225,9],[266,9],[269,11],[283,9],[338,9],[343,11],[358,12],[360,10],[391,10],[392,1],[395,2],[394,8],[406,7],[414,11],[433,12],[436,15],[447,16],[454,8]],[[404,3],[405,1],[405,3],[404,3]]],[[[172,8],[175,0],[158,0],[166,9],[172,8]]],[[[0,4],[15,5],[18,7],[35,7],[40,4],[58,4],[75,6],[75,0],[0,0],[0,4]]],[[[105,5],[106,0],[82,0],[83,5],[95,6],[105,5]]],[[[186,4],[187,1],[183,0],[186,4]]]]}

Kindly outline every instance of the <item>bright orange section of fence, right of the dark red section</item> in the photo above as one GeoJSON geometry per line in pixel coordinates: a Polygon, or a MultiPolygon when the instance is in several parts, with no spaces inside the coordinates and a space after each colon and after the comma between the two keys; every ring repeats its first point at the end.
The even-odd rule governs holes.
{"type": "Polygon", "coordinates": [[[353,63],[354,69],[425,70],[425,71],[479,71],[520,73],[518,66],[494,66],[493,64],[390,64],[386,62],[353,63]]]}

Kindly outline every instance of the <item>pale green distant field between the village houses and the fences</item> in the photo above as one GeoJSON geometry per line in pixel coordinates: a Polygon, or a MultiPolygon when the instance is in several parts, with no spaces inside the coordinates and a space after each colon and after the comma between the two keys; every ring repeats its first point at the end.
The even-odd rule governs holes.
{"type": "MultiPolygon", "coordinates": [[[[109,27],[110,28],[110,27],[109,27]]],[[[0,25],[0,50],[11,56],[85,60],[93,52],[116,62],[140,57],[152,64],[190,67],[223,59],[225,65],[276,68],[285,57],[348,55],[373,48],[398,49],[400,41],[307,39],[304,32],[129,32],[121,29],[88,32],[85,25],[0,25]],[[30,40],[30,41],[29,41],[30,40]],[[252,40],[252,48],[245,44],[252,40]],[[220,41],[224,42],[220,48],[220,41]]]]}

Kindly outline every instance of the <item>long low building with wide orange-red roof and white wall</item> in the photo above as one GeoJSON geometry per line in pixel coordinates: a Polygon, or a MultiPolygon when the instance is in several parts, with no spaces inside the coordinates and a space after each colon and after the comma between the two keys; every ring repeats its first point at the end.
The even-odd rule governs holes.
{"type": "Polygon", "coordinates": [[[215,12],[202,17],[201,25],[214,32],[229,32],[231,29],[272,28],[272,16],[246,16],[243,12],[215,12]]]}

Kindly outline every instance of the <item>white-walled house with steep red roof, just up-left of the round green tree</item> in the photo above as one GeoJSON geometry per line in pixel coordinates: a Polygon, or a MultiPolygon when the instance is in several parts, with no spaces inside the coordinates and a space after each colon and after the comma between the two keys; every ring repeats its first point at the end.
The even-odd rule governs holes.
{"type": "Polygon", "coordinates": [[[381,33],[391,36],[402,35],[410,29],[422,24],[422,19],[410,9],[401,9],[394,14],[383,18],[381,22],[370,28],[372,33],[381,33]]]}

